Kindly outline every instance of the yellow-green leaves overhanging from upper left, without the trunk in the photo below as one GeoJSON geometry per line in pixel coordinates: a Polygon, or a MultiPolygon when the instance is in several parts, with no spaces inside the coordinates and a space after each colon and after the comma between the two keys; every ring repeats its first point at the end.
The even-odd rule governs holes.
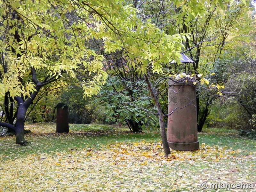
{"type": "MultiPolygon", "coordinates": [[[[74,71],[78,67],[85,68],[89,75],[97,76],[82,82],[87,96],[97,94],[100,85],[106,80],[104,59],[100,55],[102,51],[123,51],[129,67],[140,74],[148,70],[162,73],[164,63],[169,63],[170,58],[177,59],[186,36],[166,35],[150,20],[143,23],[137,17],[138,9],[118,0],[93,0],[90,3],[60,0],[52,1],[51,4],[47,1],[12,1],[10,4],[4,1],[0,10],[2,15],[15,10],[20,16],[19,20],[3,22],[1,30],[10,28],[9,33],[6,33],[8,36],[4,37],[10,41],[1,42],[1,46],[10,47],[10,50],[13,48],[16,54],[12,51],[8,54],[14,59],[18,54],[21,55],[16,58],[19,61],[15,61],[15,64],[20,63],[24,68],[20,75],[28,76],[31,68],[35,68],[38,74],[40,71],[61,77],[61,71],[65,71],[68,76],[75,78],[74,71]],[[69,14],[74,14],[76,21],[71,21],[69,14]],[[22,27],[10,27],[14,24],[22,27]],[[16,32],[22,34],[22,39],[12,44],[16,42],[13,36],[16,32]],[[87,47],[95,40],[102,41],[103,49],[98,52],[87,47]]],[[[6,34],[0,32],[1,36],[6,34]]],[[[8,85],[4,84],[7,89],[12,89],[8,85]]],[[[32,90],[31,86],[27,87],[32,90]]],[[[16,89],[20,90],[13,90],[11,96],[24,92],[20,86],[16,86],[16,89]]]]}

